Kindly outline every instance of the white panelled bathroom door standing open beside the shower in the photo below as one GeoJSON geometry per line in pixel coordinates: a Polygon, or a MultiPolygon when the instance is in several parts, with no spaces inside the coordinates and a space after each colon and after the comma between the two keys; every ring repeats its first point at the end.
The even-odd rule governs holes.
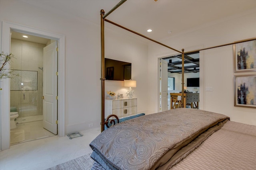
{"type": "Polygon", "coordinates": [[[44,47],[43,58],[43,127],[57,132],[57,41],[44,47]]]}

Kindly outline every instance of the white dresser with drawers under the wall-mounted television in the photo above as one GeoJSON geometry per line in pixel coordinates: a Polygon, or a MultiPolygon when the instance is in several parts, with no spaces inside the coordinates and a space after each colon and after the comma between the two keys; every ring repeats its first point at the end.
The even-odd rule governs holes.
{"type": "Polygon", "coordinates": [[[122,98],[105,100],[105,118],[108,115],[117,115],[119,118],[137,114],[137,98],[122,98]]]}

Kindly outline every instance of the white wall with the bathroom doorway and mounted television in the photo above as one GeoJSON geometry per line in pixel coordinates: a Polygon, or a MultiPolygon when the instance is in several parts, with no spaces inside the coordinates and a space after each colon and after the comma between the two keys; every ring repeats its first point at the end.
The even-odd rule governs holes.
{"type": "MultiPolygon", "coordinates": [[[[90,128],[99,127],[100,15],[98,24],[94,24],[70,15],[53,14],[22,1],[1,0],[0,21],[65,35],[65,133],[89,129],[88,124],[92,123],[90,128]]],[[[147,45],[106,28],[105,48],[106,58],[132,63],[132,79],[137,80],[134,90],[138,112],[147,111],[147,45]]],[[[125,94],[128,88],[123,88],[120,82],[106,81],[105,90],[125,94]]]]}

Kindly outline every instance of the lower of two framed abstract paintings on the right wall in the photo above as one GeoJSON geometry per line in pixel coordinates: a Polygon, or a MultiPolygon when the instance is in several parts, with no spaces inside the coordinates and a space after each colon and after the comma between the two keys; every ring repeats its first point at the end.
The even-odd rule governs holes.
{"type": "Polygon", "coordinates": [[[234,106],[256,108],[256,75],[234,76],[234,106]]]}

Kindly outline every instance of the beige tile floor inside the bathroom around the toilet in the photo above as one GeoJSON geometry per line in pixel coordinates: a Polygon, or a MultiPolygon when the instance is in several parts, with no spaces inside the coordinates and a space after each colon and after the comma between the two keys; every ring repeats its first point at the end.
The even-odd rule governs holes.
{"type": "MultiPolygon", "coordinates": [[[[42,120],[28,123],[20,123],[16,125],[17,127],[15,129],[12,129],[11,132],[24,130],[25,140],[19,143],[55,136],[53,133],[43,128],[42,120]]],[[[16,141],[18,140],[15,136],[12,136],[14,134],[17,133],[11,133],[11,145],[16,144],[16,141]]]]}

